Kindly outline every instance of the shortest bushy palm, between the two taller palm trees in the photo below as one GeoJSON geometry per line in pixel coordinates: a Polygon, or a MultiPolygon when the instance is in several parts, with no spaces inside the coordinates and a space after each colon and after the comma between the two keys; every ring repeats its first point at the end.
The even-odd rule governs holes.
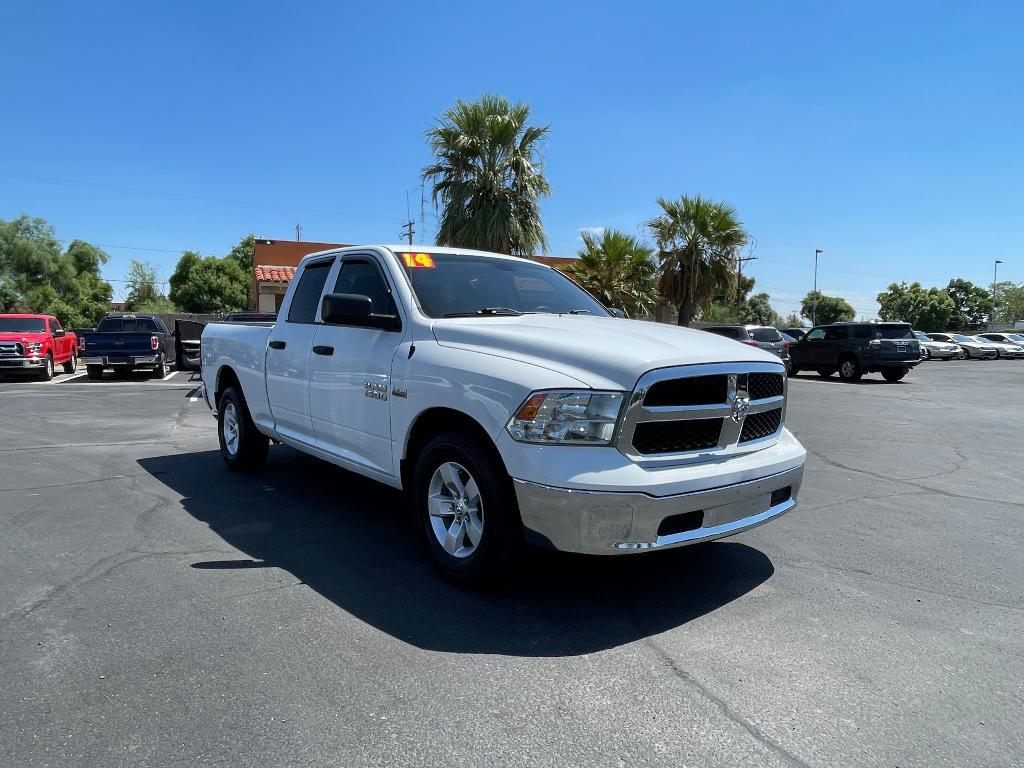
{"type": "Polygon", "coordinates": [[[657,306],[654,251],[617,229],[605,229],[600,237],[585,231],[583,243],[580,260],[565,273],[605,306],[630,316],[652,314],[657,306]]]}

